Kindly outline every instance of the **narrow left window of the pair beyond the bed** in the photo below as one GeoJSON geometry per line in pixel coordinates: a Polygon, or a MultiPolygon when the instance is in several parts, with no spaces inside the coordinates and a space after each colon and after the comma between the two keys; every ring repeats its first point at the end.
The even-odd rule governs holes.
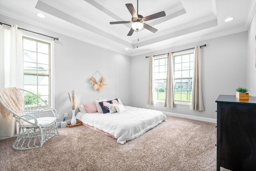
{"type": "Polygon", "coordinates": [[[167,57],[154,59],[156,99],[164,100],[166,91],[167,57]]]}

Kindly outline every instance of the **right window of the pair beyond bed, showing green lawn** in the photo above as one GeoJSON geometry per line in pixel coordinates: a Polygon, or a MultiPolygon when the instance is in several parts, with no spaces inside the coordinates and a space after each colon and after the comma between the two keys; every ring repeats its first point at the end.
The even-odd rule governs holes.
{"type": "Polygon", "coordinates": [[[174,56],[174,101],[191,101],[193,52],[174,56]]]}

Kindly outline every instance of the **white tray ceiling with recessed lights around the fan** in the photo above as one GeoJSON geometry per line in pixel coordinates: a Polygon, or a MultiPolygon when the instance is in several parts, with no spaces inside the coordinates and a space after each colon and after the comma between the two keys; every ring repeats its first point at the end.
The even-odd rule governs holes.
{"type": "Polygon", "coordinates": [[[140,30],[137,48],[137,32],[126,36],[131,24],[109,24],[131,20],[127,3],[137,11],[136,0],[1,0],[0,14],[135,56],[246,31],[256,9],[256,0],[139,0],[142,16],[160,11],[166,16],[145,22],[158,31],[140,30]],[[230,16],[235,19],[224,22],[230,16]]]}

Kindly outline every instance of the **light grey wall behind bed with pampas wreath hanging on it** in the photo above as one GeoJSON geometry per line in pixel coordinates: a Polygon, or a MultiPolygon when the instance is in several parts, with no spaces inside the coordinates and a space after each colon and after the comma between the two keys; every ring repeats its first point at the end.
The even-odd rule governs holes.
{"type": "MultiPolygon", "coordinates": [[[[95,99],[120,98],[125,105],[130,103],[130,65],[131,58],[56,32],[0,15],[0,21],[7,24],[17,24],[21,28],[39,32],[53,37],[55,41],[55,108],[61,121],[64,113],[68,119],[72,117],[68,91],[72,89],[80,94],[81,103],[89,103],[95,99]],[[95,92],[89,83],[90,78],[99,71],[106,78],[106,86],[100,92],[95,92]]],[[[28,32],[23,31],[28,34],[28,32]]],[[[38,37],[36,34],[31,34],[38,37]]],[[[41,36],[41,39],[49,40],[41,36]]],[[[51,39],[52,40],[52,39],[51,39]]],[[[2,67],[1,67],[2,68],[2,67]]],[[[2,69],[0,70],[2,73],[2,69]]],[[[77,109],[78,110],[78,109],[77,109]]]]}

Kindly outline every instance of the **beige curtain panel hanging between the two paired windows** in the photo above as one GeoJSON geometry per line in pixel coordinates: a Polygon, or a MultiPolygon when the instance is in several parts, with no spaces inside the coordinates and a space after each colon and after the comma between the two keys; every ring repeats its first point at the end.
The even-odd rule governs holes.
{"type": "Polygon", "coordinates": [[[172,82],[172,64],[173,55],[170,52],[167,56],[167,78],[166,78],[166,95],[164,101],[164,107],[174,108],[174,92],[173,92],[173,82],[172,82]]]}

